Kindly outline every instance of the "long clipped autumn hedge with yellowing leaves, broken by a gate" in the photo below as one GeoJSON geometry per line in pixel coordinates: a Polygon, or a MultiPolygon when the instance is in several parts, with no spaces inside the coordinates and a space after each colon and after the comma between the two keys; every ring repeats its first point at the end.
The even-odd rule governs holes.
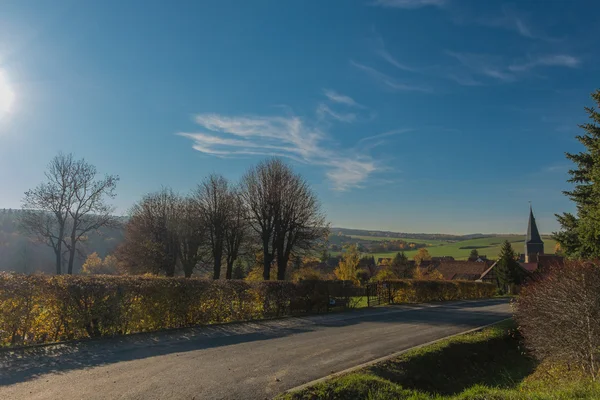
{"type": "MultiPolygon", "coordinates": [[[[395,302],[491,297],[475,282],[393,281],[395,302]]],[[[489,286],[489,287],[488,287],[489,286]]],[[[125,335],[327,312],[365,288],[344,281],[248,282],[151,276],[0,273],[0,345],[125,335]],[[331,299],[335,299],[332,305],[331,299]]]]}

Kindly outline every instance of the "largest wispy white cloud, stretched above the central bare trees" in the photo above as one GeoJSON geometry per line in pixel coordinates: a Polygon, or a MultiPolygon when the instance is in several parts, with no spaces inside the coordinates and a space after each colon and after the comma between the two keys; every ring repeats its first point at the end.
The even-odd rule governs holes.
{"type": "Polygon", "coordinates": [[[317,126],[297,116],[198,114],[202,132],[180,132],[193,148],[216,157],[279,156],[326,169],[336,190],[362,187],[381,169],[369,155],[338,148],[317,126]]]}

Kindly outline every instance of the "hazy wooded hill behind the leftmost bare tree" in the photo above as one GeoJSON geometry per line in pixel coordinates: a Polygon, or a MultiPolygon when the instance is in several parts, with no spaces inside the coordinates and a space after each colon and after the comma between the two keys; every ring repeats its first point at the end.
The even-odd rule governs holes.
{"type": "MultiPolygon", "coordinates": [[[[0,209],[0,271],[53,273],[54,253],[45,244],[27,236],[19,229],[21,210],[0,209]]],[[[97,252],[101,257],[114,251],[123,240],[122,229],[101,229],[83,243],[81,250],[87,256],[97,252]]],[[[85,257],[75,260],[74,270],[79,271],[85,257]]]]}

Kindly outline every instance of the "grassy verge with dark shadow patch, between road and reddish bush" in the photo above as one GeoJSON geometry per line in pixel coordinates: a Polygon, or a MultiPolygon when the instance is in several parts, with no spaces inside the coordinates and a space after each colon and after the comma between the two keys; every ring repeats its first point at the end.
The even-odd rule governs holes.
{"type": "Polygon", "coordinates": [[[279,399],[591,399],[600,385],[579,371],[537,365],[512,321],[415,349],[279,399]]]}

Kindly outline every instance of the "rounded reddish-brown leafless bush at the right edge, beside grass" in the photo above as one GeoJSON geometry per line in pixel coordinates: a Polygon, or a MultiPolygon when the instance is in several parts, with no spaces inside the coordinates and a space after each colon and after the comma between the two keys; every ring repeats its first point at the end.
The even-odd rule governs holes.
{"type": "Polygon", "coordinates": [[[541,360],[600,371],[600,266],[569,261],[522,288],[516,319],[525,345],[541,360]]]}

